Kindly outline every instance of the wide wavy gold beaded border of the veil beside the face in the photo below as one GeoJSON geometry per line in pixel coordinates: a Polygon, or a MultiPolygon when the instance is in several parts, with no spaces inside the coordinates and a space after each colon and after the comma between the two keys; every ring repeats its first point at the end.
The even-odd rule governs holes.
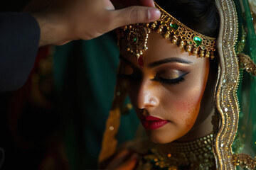
{"type": "Polygon", "coordinates": [[[235,169],[231,145],[238,129],[238,81],[239,64],[235,55],[235,42],[238,37],[238,17],[233,0],[216,0],[220,12],[220,33],[217,42],[220,66],[215,103],[220,123],[215,124],[213,150],[217,169],[235,169]]]}

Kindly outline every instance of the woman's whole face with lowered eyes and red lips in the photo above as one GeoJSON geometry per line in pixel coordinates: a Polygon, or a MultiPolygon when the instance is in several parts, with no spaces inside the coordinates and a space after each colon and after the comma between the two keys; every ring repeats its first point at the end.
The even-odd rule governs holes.
{"type": "Polygon", "coordinates": [[[162,38],[149,35],[144,67],[122,42],[121,72],[137,116],[149,139],[168,143],[193,127],[208,79],[209,60],[189,55],[162,38]]]}

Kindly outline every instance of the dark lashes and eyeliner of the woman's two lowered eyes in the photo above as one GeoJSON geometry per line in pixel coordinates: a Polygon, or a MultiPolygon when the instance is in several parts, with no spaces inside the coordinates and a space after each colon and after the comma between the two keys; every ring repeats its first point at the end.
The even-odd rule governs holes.
{"type": "MultiPolygon", "coordinates": [[[[186,74],[188,74],[188,73],[186,73],[186,74]]],[[[176,79],[164,79],[162,77],[154,77],[154,79],[151,79],[151,80],[159,81],[161,84],[179,84],[179,83],[185,81],[184,76],[186,74],[182,74],[180,77],[178,77],[176,79]]],[[[121,78],[121,79],[129,79],[131,81],[138,81],[140,79],[140,77],[137,76],[136,74],[131,74],[131,75],[118,74],[117,77],[121,78]]]]}

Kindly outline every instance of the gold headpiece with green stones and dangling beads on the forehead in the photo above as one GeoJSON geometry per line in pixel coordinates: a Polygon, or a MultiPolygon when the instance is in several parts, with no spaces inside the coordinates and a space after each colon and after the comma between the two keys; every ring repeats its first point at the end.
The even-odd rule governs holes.
{"type": "Polygon", "coordinates": [[[161,17],[158,21],[124,26],[123,33],[119,35],[119,40],[121,37],[127,38],[127,51],[137,56],[139,65],[143,66],[142,55],[148,49],[146,44],[151,30],[157,30],[158,33],[162,33],[164,38],[178,47],[184,48],[191,55],[214,58],[215,38],[210,38],[188,28],[164,11],[158,4],[155,3],[155,5],[161,12],[161,17]]]}

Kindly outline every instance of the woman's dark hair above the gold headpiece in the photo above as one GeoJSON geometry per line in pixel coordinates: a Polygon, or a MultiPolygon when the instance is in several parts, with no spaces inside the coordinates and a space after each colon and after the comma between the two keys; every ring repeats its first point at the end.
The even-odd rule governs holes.
{"type": "Polygon", "coordinates": [[[156,4],[198,33],[218,37],[220,17],[214,0],[156,0],[156,4]]]}

